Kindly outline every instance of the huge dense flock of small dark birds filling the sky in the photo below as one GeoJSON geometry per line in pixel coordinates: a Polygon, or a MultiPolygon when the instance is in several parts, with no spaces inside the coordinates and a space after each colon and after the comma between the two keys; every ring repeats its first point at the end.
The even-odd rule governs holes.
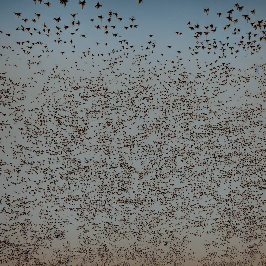
{"type": "Polygon", "coordinates": [[[140,47],[122,39],[109,23],[125,19],[112,11],[91,19],[121,38],[107,53],[99,41],[78,50],[87,37],[76,39],[78,13],[51,26],[39,23],[41,11],[31,20],[13,12],[25,26],[0,31],[1,42],[18,31],[27,38],[1,43],[1,265],[265,265],[266,64],[234,62],[265,54],[266,21],[255,9],[241,14],[246,33],[236,10],[224,27],[188,22],[196,45],[170,60],[156,57],[151,33],[140,47]],[[214,61],[195,58],[206,51],[214,61]],[[60,63],[39,69],[53,52],[60,63]],[[33,75],[12,77],[16,68],[33,75]]]}

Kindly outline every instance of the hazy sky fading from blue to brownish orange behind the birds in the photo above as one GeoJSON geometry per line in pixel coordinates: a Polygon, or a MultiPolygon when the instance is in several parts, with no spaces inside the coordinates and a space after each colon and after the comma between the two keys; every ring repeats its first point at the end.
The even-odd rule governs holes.
{"type": "MultiPolygon", "coordinates": [[[[63,265],[71,258],[70,265],[83,265],[78,264],[81,262],[86,265],[119,263],[146,265],[151,262],[145,259],[153,257],[157,262],[152,263],[157,265],[164,263],[211,265],[211,262],[229,263],[230,260],[235,260],[235,256],[239,261],[251,259],[252,251],[255,252],[257,248],[261,253],[256,255],[252,262],[246,261],[243,265],[263,265],[262,261],[266,260],[263,255],[265,253],[263,212],[266,199],[264,193],[265,48],[263,47],[265,42],[260,42],[259,38],[256,38],[255,46],[260,44],[262,48],[253,55],[250,50],[244,51],[234,42],[238,43],[241,35],[247,40],[249,31],[252,31],[252,34],[261,34],[263,27],[261,31],[258,29],[255,32],[242,14],[249,14],[252,21],[263,19],[266,11],[265,2],[257,1],[251,4],[250,1],[242,1],[239,3],[240,6],[244,6],[241,13],[231,1],[179,3],[172,0],[143,0],[143,3],[138,5],[135,0],[103,0],[100,1],[103,6],[98,10],[94,8],[97,1],[95,3],[86,1],[83,10],[78,1],[69,1],[66,7],[61,5],[59,0],[51,0],[50,3],[50,8],[44,3],[35,5],[33,1],[5,1],[1,5],[3,33],[0,35],[0,68],[1,77],[5,77],[1,80],[3,90],[1,90],[0,106],[2,118],[0,174],[3,184],[0,188],[1,264],[35,265],[39,259],[42,265],[56,265],[53,264],[55,260],[58,265],[63,265]],[[204,8],[209,8],[209,16],[203,12],[204,8]],[[234,22],[229,22],[225,18],[228,15],[226,12],[231,8],[234,9],[231,16],[239,19],[235,26],[234,22]],[[253,8],[256,10],[255,16],[250,13],[253,8]],[[108,23],[110,10],[113,13],[117,12],[122,21],[119,22],[113,15],[111,22],[108,23]],[[13,12],[22,13],[22,17],[18,18],[13,12]],[[219,12],[222,13],[221,17],[217,15],[219,12]],[[41,13],[40,19],[34,13],[41,13]],[[77,13],[75,23],[80,21],[80,26],[75,25],[72,29],[70,23],[73,19],[69,13],[77,13]],[[104,17],[102,23],[97,18],[100,15],[104,17]],[[57,16],[61,17],[58,24],[53,20],[57,16]],[[137,18],[133,23],[128,19],[132,16],[137,18]],[[22,18],[27,18],[29,21],[25,23],[22,18]],[[31,21],[34,18],[36,23],[31,21]],[[92,18],[93,22],[90,21],[92,18]],[[216,39],[221,49],[219,41],[226,43],[225,37],[230,36],[228,47],[234,46],[234,51],[239,49],[239,53],[234,52],[234,55],[230,55],[226,46],[227,57],[219,59],[216,63],[215,60],[222,53],[219,49],[215,50],[215,55],[214,49],[209,55],[207,49],[204,51],[198,49],[196,51],[199,52],[198,55],[192,56],[193,51],[188,47],[194,48],[198,44],[192,37],[195,31],[191,32],[188,28],[189,21],[193,25],[199,23],[199,31],[202,32],[206,31],[203,26],[211,23],[217,27],[215,34],[210,32],[206,37],[203,33],[199,41],[208,38],[213,42],[213,39],[216,39]],[[231,23],[230,29],[224,32],[222,27],[229,23],[231,23]],[[51,29],[49,38],[45,35],[47,32],[43,32],[43,24],[51,29]],[[100,30],[94,27],[98,24],[101,26],[100,30]],[[124,26],[130,24],[139,26],[126,31],[124,26]],[[34,34],[31,36],[27,30],[16,31],[15,28],[20,29],[20,25],[25,29],[31,27],[30,32],[34,34]],[[69,26],[67,31],[64,25],[69,26]],[[109,35],[104,34],[105,25],[109,26],[109,35]],[[55,35],[58,31],[55,26],[61,28],[62,33],[59,36],[66,41],[65,44],[54,41],[59,39],[55,35]],[[111,26],[116,26],[116,29],[113,30],[111,26]],[[33,27],[42,34],[37,34],[38,31],[32,30],[33,27]],[[76,32],[76,28],[79,28],[78,32],[71,36],[69,32],[76,32]],[[233,35],[234,28],[241,29],[240,34],[233,35]],[[182,36],[177,35],[176,31],[182,32],[182,36]],[[119,37],[113,37],[112,33],[118,33],[119,37]],[[86,38],[82,38],[81,34],[85,34],[86,38]],[[153,36],[150,38],[149,35],[153,36]],[[128,41],[128,46],[124,42],[122,44],[118,42],[123,39],[128,41]],[[30,40],[31,43],[42,42],[43,45],[47,45],[49,53],[43,52],[46,50],[43,45],[35,44],[29,49],[27,46],[31,44],[16,43],[26,40],[30,40]],[[151,46],[152,44],[147,44],[149,40],[152,44],[156,44],[155,48],[151,46]],[[11,48],[3,48],[9,45],[11,48]],[[133,49],[136,51],[133,52],[131,48],[126,51],[121,49],[121,45],[125,47],[134,45],[133,49]],[[171,49],[168,49],[168,45],[172,46],[171,49]],[[146,50],[146,47],[150,49],[146,50]],[[25,54],[21,48],[25,52],[30,51],[31,54],[25,54]],[[114,54],[111,53],[112,49],[115,51],[114,54]],[[83,52],[88,50],[90,50],[89,55],[86,53],[84,57],[83,52]],[[119,52],[116,52],[117,50],[119,52]],[[62,55],[60,52],[65,54],[62,55]],[[129,53],[128,59],[123,52],[129,53]],[[94,54],[93,59],[92,54],[94,54]],[[38,55],[42,56],[38,58],[38,55]],[[144,56],[141,58],[141,63],[135,55],[144,56]],[[147,61],[144,61],[145,55],[148,55],[147,61]],[[180,58],[182,61],[178,61],[180,58]],[[123,60],[121,65],[112,65],[112,62],[119,60],[123,60]],[[171,63],[172,60],[175,64],[171,63]],[[32,64],[28,68],[27,63],[32,61],[41,62],[38,65],[32,64]],[[132,65],[134,61],[140,65],[132,65]],[[148,64],[149,62],[151,63],[148,64]],[[233,77],[226,77],[225,70],[222,71],[222,67],[220,68],[222,64],[228,63],[229,67],[235,68],[228,71],[235,75],[236,86],[225,82],[226,78],[230,81],[233,77]],[[109,64],[113,66],[112,69],[109,64]],[[166,64],[165,69],[160,71],[164,64],[166,64]],[[181,69],[184,67],[185,70],[182,71],[186,73],[179,75],[177,74],[179,72],[176,72],[176,76],[167,78],[168,74],[163,72],[173,70],[172,67],[177,64],[181,69]],[[217,76],[214,70],[210,70],[210,64],[218,69],[217,76]],[[56,65],[58,69],[55,68],[56,65]],[[51,70],[52,68],[54,70],[51,70]],[[153,70],[157,68],[159,71],[153,73],[161,76],[157,79],[153,75],[152,79],[146,80],[149,69],[153,71],[152,68],[153,70]],[[258,73],[255,73],[255,68],[259,69],[258,73]],[[102,76],[99,75],[99,70],[102,76]],[[135,88],[127,92],[122,86],[123,82],[124,85],[128,85],[130,79],[129,76],[128,80],[125,79],[125,74],[136,77],[140,70],[146,71],[143,84],[148,90],[146,94],[150,94],[150,97],[145,97],[143,88],[141,91],[135,88]],[[7,73],[4,74],[5,72],[7,73]],[[121,73],[123,74],[120,75],[121,73]],[[206,77],[200,78],[197,73],[206,77]],[[208,77],[213,78],[212,81],[216,84],[208,85],[206,81],[208,77]],[[10,105],[8,105],[10,100],[7,91],[10,84],[5,83],[10,83],[10,80],[6,80],[7,78],[14,83],[20,82],[20,86],[14,85],[15,95],[18,96],[10,105]],[[85,78],[87,79],[83,80],[85,78]],[[163,80],[178,81],[178,78],[182,81],[181,85],[176,88],[170,86],[168,89],[163,87],[163,80]],[[187,81],[186,84],[183,84],[184,80],[187,81]],[[106,95],[103,90],[99,90],[97,94],[92,89],[86,88],[88,85],[86,82],[91,82],[91,86],[95,87],[106,82],[106,85],[102,86],[107,87],[106,95]],[[201,85],[202,83],[205,85],[201,85]],[[75,85],[84,87],[75,90],[75,85]],[[214,97],[216,85],[220,91],[219,96],[214,97]],[[121,92],[118,93],[117,90],[121,92]],[[123,111],[125,108],[119,110],[119,101],[125,106],[130,106],[131,97],[135,99],[135,106],[127,111],[123,111]],[[77,101],[73,109],[69,107],[71,101],[77,101]],[[99,108],[95,106],[94,101],[98,101],[99,108]],[[100,107],[102,101],[105,109],[100,107]],[[184,103],[184,109],[182,105],[174,107],[178,102],[184,103]],[[155,111],[152,110],[153,105],[155,111]],[[111,106],[114,106],[113,110],[111,106]],[[56,110],[56,107],[59,110],[56,110]],[[164,114],[164,108],[170,108],[168,115],[164,114]],[[147,113],[143,113],[142,110],[145,109],[147,113]],[[188,115],[190,109],[194,110],[192,116],[188,115]],[[107,114],[108,112],[110,113],[107,114]],[[187,119],[182,117],[183,113],[187,119]],[[144,117],[145,114],[147,117],[144,117]],[[193,117],[196,114],[198,119],[193,117]],[[67,116],[71,119],[69,120],[67,116]],[[175,116],[180,120],[175,119],[175,116]],[[46,119],[49,117],[46,122],[44,117],[46,119]],[[65,119],[65,124],[61,126],[62,118],[65,119]],[[109,126],[109,122],[113,127],[109,126]],[[103,123],[106,128],[102,126],[100,129],[99,123],[103,123]],[[162,130],[158,126],[160,123],[166,123],[168,129],[162,130]],[[185,131],[185,124],[190,129],[189,132],[185,131]],[[30,132],[34,125],[43,127],[46,131],[43,133],[40,131],[33,137],[30,132]],[[83,128],[85,133],[77,131],[78,127],[83,128]],[[143,132],[141,131],[143,128],[149,132],[146,139],[139,135],[143,132]],[[236,134],[238,130],[240,131],[236,134]],[[167,132],[171,132],[172,135],[170,133],[168,135],[167,132]],[[105,145],[103,145],[104,134],[109,134],[106,137],[108,144],[105,145]],[[197,144],[185,139],[187,134],[197,135],[197,144]],[[160,146],[160,141],[168,143],[160,146]],[[123,142],[134,145],[132,144],[133,147],[130,149],[123,147],[123,142]],[[220,148],[216,145],[218,142],[221,143],[220,148]],[[234,143],[240,143],[241,147],[234,143]],[[62,148],[64,144],[68,150],[62,148]],[[184,153],[178,150],[178,146],[184,150],[184,153]],[[58,153],[54,155],[54,151],[58,153]],[[19,157],[19,154],[22,157],[19,157]],[[149,156],[160,158],[160,163],[157,161],[157,165],[155,161],[153,164],[146,162],[149,156]],[[194,162],[194,166],[187,168],[187,162],[190,160],[194,162]],[[206,160],[210,165],[205,164],[206,160]],[[192,196],[193,192],[189,190],[194,188],[195,181],[192,181],[194,178],[197,178],[197,189],[201,189],[200,198],[192,196]],[[156,194],[155,181],[159,182],[158,194],[156,194]],[[21,184],[15,184],[16,182],[21,184]],[[110,182],[113,182],[112,187],[110,182]],[[184,189],[168,201],[161,193],[169,184],[171,192],[178,191],[182,186],[188,186],[189,189],[184,189]],[[130,188],[128,191],[123,191],[124,187],[130,188]],[[215,196],[210,194],[211,189],[214,190],[215,196]],[[21,200],[18,193],[23,197],[27,196],[27,203],[15,205],[16,202],[26,202],[25,199],[21,200]],[[8,198],[11,202],[15,200],[11,203],[7,201],[8,198]],[[189,210],[197,199],[202,209],[210,208],[206,213],[195,214],[189,210]],[[222,199],[225,199],[225,202],[221,203],[222,199]],[[243,203],[242,207],[235,206],[238,201],[243,203]],[[172,206],[176,208],[174,218],[170,217],[170,213],[165,213],[172,206]],[[111,211],[108,211],[107,207],[111,211]],[[257,216],[256,210],[260,212],[257,216]],[[92,217],[94,211],[96,214],[92,217]],[[47,217],[50,224],[47,224],[47,217]],[[182,225],[178,224],[181,218],[184,218],[182,225]],[[190,227],[185,226],[186,219],[189,219],[190,227]],[[198,226],[197,223],[202,224],[198,226]],[[234,230],[228,229],[227,236],[226,224],[235,225],[234,230]],[[139,238],[137,233],[123,237],[123,231],[128,230],[142,233],[145,239],[139,238]],[[103,232],[105,236],[102,236],[103,232]],[[57,235],[60,235],[60,239],[56,238],[57,235]],[[170,241],[171,244],[164,246],[163,241],[170,241]],[[145,248],[147,248],[146,253],[142,253],[145,248]],[[28,251],[30,254],[27,254],[28,251]],[[131,255],[128,255],[130,252],[131,255]],[[89,259],[91,253],[94,254],[92,260],[89,259]],[[107,256],[108,253],[114,256],[109,263],[103,257],[100,259],[102,254],[107,256]],[[10,254],[18,254],[21,261],[10,254]],[[160,255],[160,259],[157,255],[160,255]],[[188,260],[194,256],[195,261],[188,260]],[[204,264],[203,260],[206,259],[208,263],[204,264]]],[[[251,40],[253,39],[252,36],[251,40]]],[[[206,41],[204,45],[207,46],[206,41]]],[[[136,80],[138,78],[134,81],[136,80]]]]}

